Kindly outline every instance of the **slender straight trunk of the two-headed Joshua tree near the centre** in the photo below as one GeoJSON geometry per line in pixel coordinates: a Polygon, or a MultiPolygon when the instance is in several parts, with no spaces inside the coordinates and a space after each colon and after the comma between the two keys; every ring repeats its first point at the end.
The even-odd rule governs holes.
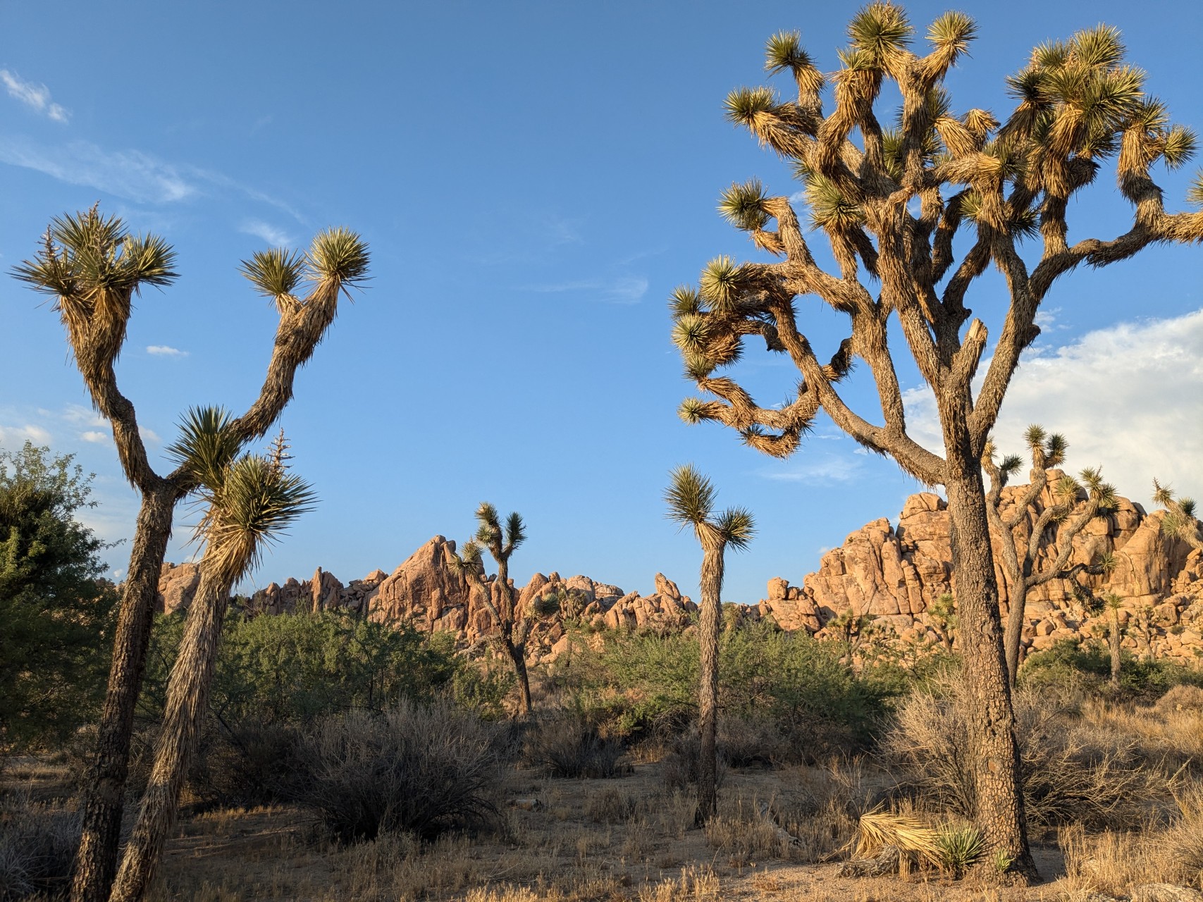
{"type": "Polygon", "coordinates": [[[723,619],[723,546],[706,547],[701,559],[701,616],[698,623],[700,681],[698,687],[698,811],[700,826],[715,817],[718,807],[718,630],[723,619]]]}

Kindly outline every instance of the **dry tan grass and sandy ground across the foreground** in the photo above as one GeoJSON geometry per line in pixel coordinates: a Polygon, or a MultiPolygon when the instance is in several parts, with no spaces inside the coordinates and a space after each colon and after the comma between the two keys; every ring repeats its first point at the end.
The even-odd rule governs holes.
{"type": "MultiPolygon", "coordinates": [[[[224,809],[182,820],[168,843],[153,902],[1061,902],[1089,892],[1128,895],[1139,883],[1203,883],[1203,778],[1193,758],[1201,711],[1179,693],[1152,707],[1085,704],[1060,729],[1088,744],[1126,743],[1171,805],[1146,807],[1125,830],[1060,829],[1037,847],[1050,883],[1029,889],[953,880],[934,868],[907,877],[842,879],[834,860],[854,838],[893,777],[869,760],[828,767],[733,769],[719,815],[693,826],[694,799],[665,789],[663,764],[633,762],[614,781],[558,779],[511,770],[509,807],[492,833],[421,844],[386,836],[333,844],[310,814],[290,806],[224,809]],[[1185,764],[1185,767],[1183,766],[1185,764]],[[1175,776],[1177,775],[1177,776],[1175,776]],[[1177,801],[1174,801],[1177,800],[1177,801]]],[[[14,762],[7,789],[38,805],[70,805],[60,765],[14,762]]],[[[913,812],[938,825],[949,813],[915,799],[913,812]]],[[[901,813],[907,813],[903,803],[901,813]]]]}

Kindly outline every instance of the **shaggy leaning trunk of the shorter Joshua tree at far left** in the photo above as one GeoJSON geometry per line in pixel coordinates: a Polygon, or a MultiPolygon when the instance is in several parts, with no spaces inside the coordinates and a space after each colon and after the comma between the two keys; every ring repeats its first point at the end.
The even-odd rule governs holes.
{"type": "Polygon", "coordinates": [[[167,707],[150,782],[109,902],[138,902],[146,895],[164,842],[176,821],[179,794],[208,710],[209,686],[231,588],[229,582],[211,577],[202,564],[201,584],[188,609],[179,657],[171,669],[167,707]]]}

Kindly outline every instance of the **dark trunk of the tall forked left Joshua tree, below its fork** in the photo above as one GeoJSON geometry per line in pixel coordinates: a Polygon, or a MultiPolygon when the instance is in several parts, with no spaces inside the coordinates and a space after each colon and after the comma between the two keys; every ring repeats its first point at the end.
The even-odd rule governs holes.
{"type": "Polygon", "coordinates": [[[76,856],[72,902],[105,902],[117,872],[134,708],[142,688],[159,574],[178,499],[179,491],[167,480],[158,480],[142,494],[129,575],[118,610],[96,755],[84,783],[90,791],[83,794],[83,833],[76,856]]]}

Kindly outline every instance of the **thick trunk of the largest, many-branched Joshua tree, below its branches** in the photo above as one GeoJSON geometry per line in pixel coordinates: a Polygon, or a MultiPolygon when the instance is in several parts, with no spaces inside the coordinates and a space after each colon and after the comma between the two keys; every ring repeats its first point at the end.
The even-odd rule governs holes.
{"type": "Polygon", "coordinates": [[[959,636],[976,710],[970,717],[973,756],[977,761],[977,823],[986,845],[1012,856],[1012,870],[1036,876],[1027,848],[1023,777],[1015,744],[1015,719],[1011,707],[1011,684],[1000,642],[998,588],[990,551],[990,529],[985,512],[982,470],[974,455],[954,456],[949,447],[950,475],[948,517],[952,532],[953,572],[960,609],[959,636]],[[960,467],[956,464],[960,463],[960,467]]]}

